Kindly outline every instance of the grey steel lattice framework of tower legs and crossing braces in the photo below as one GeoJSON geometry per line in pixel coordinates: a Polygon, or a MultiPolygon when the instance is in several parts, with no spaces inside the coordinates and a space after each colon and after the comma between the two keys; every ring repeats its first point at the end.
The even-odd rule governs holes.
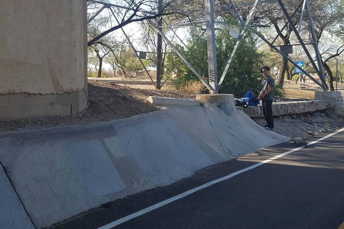
{"type": "MultiPolygon", "coordinates": [[[[100,1],[96,1],[96,0],[88,0],[89,2],[93,2],[93,3],[99,3],[99,4],[104,4],[104,7],[102,9],[100,9],[96,15],[92,16],[92,18],[89,19],[89,21],[92,21],[95,16],[97,16],[102,10],[104,10],[104,8],[109,8],[111,10],[110,7],[117,7],[117,8],[122,8],[122,9],[127,9],[127,10],[137,10],[137,9],[133,9],[133,8],[128,8],[128,7],[123,7],[120,5],[115,5],[115,4],[109,4],[109,3],[104,3],[104,2],[100,2],[100,1]]],[[[173,26],[185,26],[185,25],[195,25],[195,24],[206,24],[206,33],[207,33],[207,49],[208,49],[208,76],[209,76],[209,83],[208,84],[203,77],[194,69],[194,67],[186,60],[186,58],[180,53],[180,51],[172,44],[172,42],[163,34],[162,31],[159,30],[159,28],[161,26],[159,26],[158,24],[152,22],[152,20],[148,20],[149,24],[152,25],[152,27],[154,28],[154,30],[159,33],[162,38],[171,46],[171,48],[175,51],[175,53],[185,62],[185,64],[194,72],[194,74],[200,79],[200,81],[206,86],[206,88],[211,92],[211,93],[217,93],[218,90],[221,88],[222,82],[224,80],[224,77],[228,71],[228,68],[234,58],[235,52],[239,46],[239,43],[241,41],[241,39],[243,38],[243,35],[246,31],[246,28],[249,24],[250,18],[256,8],[257,4],[260,3],[268,3],[268,2],[278,2],[284,15],[286,16],[288,23],[290,24],[295,36],[298,38],[299,44],[297,45],[301,45],[305,54],[307,55],[308,59],[310,60],[313,68],[315,69],[315,71],[318,73],[318,75],[320,76],[321,79],[321,83],[318,82],[317,80],[315,80],[309,73],[307,73],[306,71],[304,71],[303,69],[301,69],[294,61],[291,60],[291,58],[282,53],[276,46],[273,45],[273,43],[276,41],[276,39],[278,38],[278,36],[273,40],[272,43],[270,43],[262,34],[260,34],[255,28],[251,28],[251,30],[257,34],[264,42],[266,42],[271,48],[273,48],[277,53],[281,54],[285,59],[287,59],[289,62],[291,62],[291,64],[293,64],[296,68],[300,69],[301,72],[303,72],[305,75],[307,75],[311,80],[313,80],[315,83],[317,83],[320,87],[323,88],[324,91],[327,91],[328,86],[326,84],[326,81],[324,79],[324,70],[323,70],[323,66],[322,66],[322,61],[321,61],[321,55],[319,53],[319,47],[318,47],[318,42],[316,41],[316,36],[315,36],[315,31],[314,31],[314,26],[313,26],[313,22],[312,22],[312,16],[311,16],[311,12],[309,9],[309,5],[308,5],[308,0],[303,0],[303,8],[302,8],[302,13],[301,13],[301,20],[300,20],[300,24],[298,26],[298,28],[295,27],[295,25],[293,24],[291,18],[297,13],[297,11],[300,9],[302,2],[298,5],[298,8],[293,12],[293,14],[290,16],[286,10],[286,8],[284,7],[284,4],[282,3],[282,0],[255,0],[254,2],[247,2],[247,3],[239,3],[239,4],[234,4],[232,2],[232,0],[230,1],[230,5],[224,5],[224,6],[218,6],[218,7],[214,7],[213,6],[213,0],[205,0],[205,9],[198,9],[198,10],[191,10],[191,11],[187,11],[189,13],[192,12],[197,12],[197,11],[205,11],[205,16],[206,16],[206,21],[199,21],[199,22],[193,22],[193,23],[181,23],[181,24],[172,24],[172,25],[168,25],[168,27],[173,27],[173,26]],[[236,7],[238,6],[243,6],[243,5],[252,5],[252,9],[250,10],[250,13],[246,19],[246,21],[244,22],[243,19],[241,19],[239,13],[236,10],[236,7]],[[223,22],[215,22],[216,17],[219,15],[219,13],[217,14],[216,17],[214,17],[214,10],[216,9],[220,9],[222,11],[229,11],[233,16],[235,16],[236,18],[238,18],[241,22],[241,24],[243,25],[243,29],[240,33],[240,36],[238,37],[238,41],[236,42],[234,49],[232,51],[232,54],[230,55],[230,58],[227,62],[227,65],[224,69],[224,72],[221,76],[221,79],[219,80],[218,84],[217,84],[217,61],[216,61],[216,46],[215,46],[215,28],[214,28],[214,24],[222,24],[225,26],[229,26],[226,23],[223,22]],[[233,9],[233,10],[232,10],[233,9]],[[305,43],[302,39],[301,36],[299,34],[300,32],[300,26],[301,26],[301,22],[302,22],[302,17],[304,14],[304,10],[307,11],[307,15],[308,15],[308,23],[310,26],[310,31],[311,31],[311,36],[312,36],[312,42],[311,43],[305,43]],[[234,11],[234,12],[233,12],[234,11]],[[314,50],[315,50],[315,54],[316,54],[316,61],[318,62],[318,66],[316,66],[312,56],[310,55],[307,47],[305,45],[308,44],[313,44],[314,46],[314,50]]],[[[139,12],[142,14],[155,14],[154,12],[147,12],[144,11],[142,9],[139,9],[139,12]]],[[[114,14],[114,12],[111,10],[112,14],[114,14]]],[[[114,14],[115,16],[115,14],[114,14]]],[[[116,16],[115,16],[116,18],[116,16]]],[[[117,20],[117,18],[116,18],[117,20]]],[[[166,23],[166,22],[165,22],[166,23]]],[[[166,23],[167,24],[167,23],[166,23]]],[[[285,24],[282,29],[281,32],[283,31],[283,29],[287,26],[287,24],[285,24]]],[[[123,31],[123,30],[122,30],[123,31]]],[[[172,30],[172,32],[176,35],[175,31],[172,30]]],[[[124,31],[123,31],[124,33],[124,31]]],[[[204,33],[203,33],[204,34],[204,33]]],[[[126,34],[125,34],[126,35],[126,34]]],[[[126,36],[127,37],[127,36],[126,36]]],[[[178,36],[177,36],[178,37],[178,36]]],[[[178,37],[179,38],[179,37],[178,37]]],[[[129,38],[127,37],[128,41],[129,38]]],[[[180,39],[180,38],[179,38],[180,39]]],[[[181,40],[181,39],[180,39],[181,40]]],[[[131,42],[129,41],[129,43],[131,44],[131,42]]],[[[183,42],[182,42],[183,43],[183,42]]],[[[183,43],[184,44],[184,43],[183,43]]],[[[184,44],[185,45],[185,44],[184,44]]],[[[131,44],[132,46],[132,44],[131,44]]],[[[186,46],[186,45],[185,45],[186,46]]],[[[133,48],[133,46],[132,46],[133,48]]],[[[134,48],[133,48],[134,49],[134,48]]],[[[134,49],[135,50],[135,49],[134,49]]],[[[136,52],[135,52],[136,53],[136,52]]],[[[137,53],[136,53],[137,54],[137,53]]],[[[137,55],[138,56],[138,55],[137,55]]],[[[139,58],[139,56],[138,56],[139,58]]],[[[139,60],[141,61],[141,59],[139,58],[139,60]]],[[[142,61],[141,64],[143,65],[142,61]]],[[[143,65],[144,66],[144,65],[143,65]]],[[[145,67],[144,67],[145,68],[145,67]]],[[[145,69],[147,71],[147,69],[145,69]]],[[[148,71],[147,71],[148,72],[148,71]]],[[[150,77],[151,78],[151,77],[150,77]]],[[[152,79],[151,79],[152,80],[152,79]]],[[[152,80],[153,82],[153,80],[152,80]]],[[[154,84],[154,82],[153,82],[154,84]]],[[[155,84],[154,84],[155,85],[155,84]]]]}

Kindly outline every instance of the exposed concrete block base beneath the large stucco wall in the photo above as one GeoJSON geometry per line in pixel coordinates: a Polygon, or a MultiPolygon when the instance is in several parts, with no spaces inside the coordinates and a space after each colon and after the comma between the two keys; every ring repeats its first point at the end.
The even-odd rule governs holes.
{"type": "Polygon", "coordinates": [[[86,105],[85,91],[48,95],[6,94],[0,95],[0,119],[73,115],[86,105]]]}

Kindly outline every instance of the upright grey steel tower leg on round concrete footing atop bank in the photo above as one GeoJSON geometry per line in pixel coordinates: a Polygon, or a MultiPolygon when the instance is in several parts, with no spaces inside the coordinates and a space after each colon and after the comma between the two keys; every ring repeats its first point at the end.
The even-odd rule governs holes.
{"type": "Polygon", "coordinates": [[[209,84],[215,89],[215,91],[210,91],[210,93],[216,94],[218,90],[213,0],[205,0],[205,24],[207,34],[209,84]]]}

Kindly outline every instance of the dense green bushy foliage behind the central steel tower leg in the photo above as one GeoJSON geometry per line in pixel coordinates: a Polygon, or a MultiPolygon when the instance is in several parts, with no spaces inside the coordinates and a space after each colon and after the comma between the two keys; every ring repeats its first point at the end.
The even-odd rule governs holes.
{"type": "MultiPolygon", "coordinates": [[[[228,24],[234,24],[233,21],[233,19],[225,20],[228,24]]],[[[202,36],[202,32],[200,28],[191,29],[188,40],[189,50],[182,51],[182,53],[198,73],[204,78],[208,78],[207,41],[206,37],[202,36]]],[[[215,40],[219,80],[237,39],[230,36],[229,27],[223,26],[216,31],[215,40]]],[[[257,52],[256,41],[257,37],[250,30],[247,30],[219,93],[234,94],[234,96],[241,98],[250,88],[257,91],[261,89],[260,66],[263,63],[262,54],[257,52]]],[[[177,89],[183,87],[188,81],[197,80],[194,73],[175,54],[170,54],[167,57],[166,65],[168,69],[178,69],[181,73],[178,79],[172,80],[172,84],[177,89]]]]}

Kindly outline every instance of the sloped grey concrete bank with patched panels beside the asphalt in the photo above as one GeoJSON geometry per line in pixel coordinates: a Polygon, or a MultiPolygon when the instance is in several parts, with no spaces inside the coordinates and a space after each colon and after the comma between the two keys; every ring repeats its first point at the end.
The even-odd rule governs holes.
{"type": "MultiPolygon", "coordinates": [[[[43,228],[287,140],[226,102],[171,105],[101,124],[1,133],[0,160],[34,226],[43,228]]],[[[12,199],[1,202],[0,219],[12,199]]]]}

